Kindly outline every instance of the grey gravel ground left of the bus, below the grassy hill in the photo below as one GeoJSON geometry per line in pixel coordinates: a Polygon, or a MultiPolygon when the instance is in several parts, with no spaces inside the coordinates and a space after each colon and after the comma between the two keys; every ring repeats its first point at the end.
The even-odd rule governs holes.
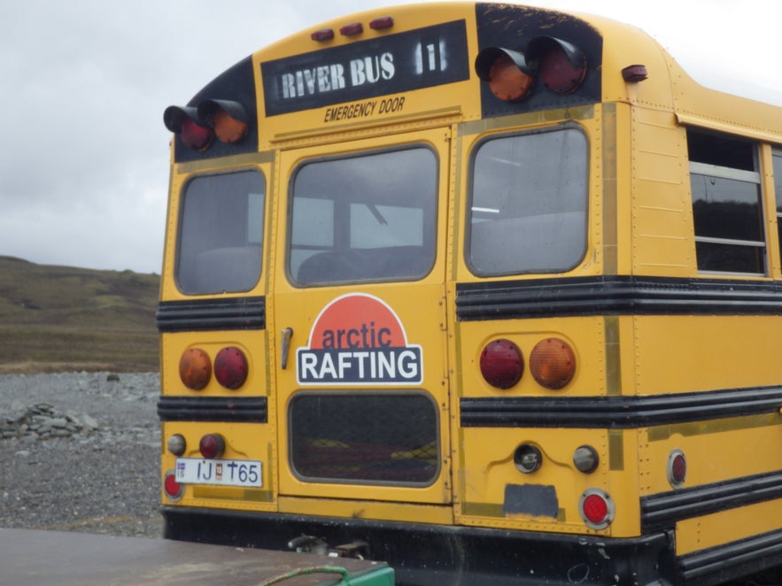
{"type": "Polygon", "coordinates": [[[0,527],[162,536],[158,397],[158,374],[0,375],[0,527]],[[40,405],[69,427],[34,433],[40,405]]]}

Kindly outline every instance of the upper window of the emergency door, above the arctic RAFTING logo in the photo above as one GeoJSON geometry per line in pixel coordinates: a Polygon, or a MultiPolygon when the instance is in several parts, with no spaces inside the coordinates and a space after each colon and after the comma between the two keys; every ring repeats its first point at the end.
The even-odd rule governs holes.
{"type": "Polygon", "coordinates": [[[412,281],[434,266],[437,157],[428,148],[305,163],[290,205],[297,285],[412,281]]]}

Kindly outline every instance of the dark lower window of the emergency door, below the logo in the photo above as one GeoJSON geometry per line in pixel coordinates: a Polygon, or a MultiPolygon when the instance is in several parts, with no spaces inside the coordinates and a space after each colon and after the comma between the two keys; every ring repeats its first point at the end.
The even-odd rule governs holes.
{"type": "Polygon", "coordinates": [[[289,416],[299,477],[419,485],[437,478],[437,405],[426,395],[301,393],[289,416]]]}

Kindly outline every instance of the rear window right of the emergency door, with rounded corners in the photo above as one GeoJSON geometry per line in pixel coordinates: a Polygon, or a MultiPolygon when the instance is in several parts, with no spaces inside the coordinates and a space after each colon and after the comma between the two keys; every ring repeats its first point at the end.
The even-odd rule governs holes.
{"type": "Polygon", "coordinates": [[[587,147],[577,128],[478,146],[466,252],[474,274],[559,273],[584,258],[587,147]]]}

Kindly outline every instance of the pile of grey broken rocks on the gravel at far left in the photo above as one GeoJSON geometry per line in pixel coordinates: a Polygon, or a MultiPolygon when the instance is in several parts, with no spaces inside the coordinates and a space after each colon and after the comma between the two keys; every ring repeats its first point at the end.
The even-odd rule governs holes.
{"type": "Polygon", "coordinates": [[[0,440],[12,437],[43,440],[74,435],[89,436],[97,429],[97,420],[88,414],[62,413],[48,403],[27,407],[18,417],[0,417],[0,440]]]}

